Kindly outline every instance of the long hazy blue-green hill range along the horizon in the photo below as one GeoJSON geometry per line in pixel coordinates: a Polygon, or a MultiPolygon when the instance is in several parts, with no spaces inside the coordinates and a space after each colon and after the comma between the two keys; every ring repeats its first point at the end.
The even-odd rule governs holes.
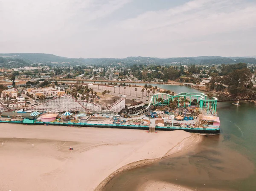
{"type": "Polygon", "coordinates": [[[127,58],[67,58],[59,57],[53,54],[41,53],[9,53],[0,54],[0,57],[13,57],[23,59],[32,63],[72,63],[72,64],[233,64],[233,63],[256,63],[254,57],[218,57],[218,56],[200,56],[200,57],[173,57],[173,58],[155,58],[155,57],[127,57],[127,58]]]}

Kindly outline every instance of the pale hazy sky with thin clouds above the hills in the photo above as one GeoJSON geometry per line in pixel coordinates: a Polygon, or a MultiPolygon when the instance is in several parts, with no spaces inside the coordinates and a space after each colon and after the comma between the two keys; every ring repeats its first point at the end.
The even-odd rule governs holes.
{"type": "Polygon", "coordinates": [[[0,0],[0,53],[256,55],[256,0],[0,0]]]}

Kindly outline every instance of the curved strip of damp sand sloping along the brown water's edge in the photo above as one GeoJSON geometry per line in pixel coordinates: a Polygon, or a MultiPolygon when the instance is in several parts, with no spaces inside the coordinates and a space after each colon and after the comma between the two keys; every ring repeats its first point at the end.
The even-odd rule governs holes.
{"type": "MultiPolygon", "coordinates": [[[[158,157],[158,158],[154,158],[154,159],[145,159],[145,160],[140,160],[140,161],[136,161],[136,162],[132,162],[129,163],[119,169],[117,169],[116,171],[114,171],[113,173],[111,173],[108,177],[105,178],[105,180],[103,180],[96,188],[94,191],[103,191],[103,189],[105,188],[105,186],[111,181],[113,180],[114,177],[118,176],[119,174],[125,172],[125,171],[129,171],[135,168],[140,168],[142,166],[145,165],[149,165],[157,160],[163,159],[165,157],[169,157],[171,155],[174,155],[173,157],[177,157],[178,155],[183,155],[186,152],[191,151],[191,149],[195,149],[195,145],[197,145],[198,143],[201,143],[202,141],[202,137],[199,134],[190,134],[189,137],[184,138],[183,140],[181,140],[179,143],[177,143],[174,147],[172,147],[171,149],[169,149],[169,151],[166,152],[165,155],[163,155],[162,157],[158,157]],[[195,142],[193,142],[195,141],[195,142]]],[[[143,188],[145,188],[147,185],[140,185],[143,186],[143,188]]],[[[181,188],[185,188],[185,187],[181,187],[181,188]]],[[[144,191],[144,190],[140,190],[139,191],[144,191]]],[[[146,190],[148,191],[148,190],[146,190]]],[[[150,190],[151,191],[151,190],[150,190]]],[[[152,190],[153,191],[153,190],[152,190]]]]}

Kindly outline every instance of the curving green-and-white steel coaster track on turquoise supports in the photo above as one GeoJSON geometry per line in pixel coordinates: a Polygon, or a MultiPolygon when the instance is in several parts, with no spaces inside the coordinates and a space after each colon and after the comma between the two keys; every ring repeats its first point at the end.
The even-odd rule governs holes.
{"type": "Polygon", "coordinates": [[[150,108],[151,105],[159,105],[160,103],[162,103],[162,102],[154,103],[154,98],[158,97],[159,95],[160,96],[165,95],[167,97],[166,99],[163,100],[164,102],[166,102],[168,100],[173,100],[176,97],[198,97],[199,98],[198,100],[201,100],[201,101],[204,101],[204,102],[218,101],[217,97],[212,97],[212,99],[206,99],[207,95],[204,94],[204,93],[200,93],[200,92],[197,92],[197,93],[181,92],[181,93],[176,94],[176,95],[170,95],[170,94],[166,94],[166,93],[157,93],[157,94],[154,94],[154,95],[151,96],[151,99],[148,103],[148,106],[145,109],[139,111],[137,114],[130,114],[129,116],[141,115],[141,114],[145,113],[146,111],[148,111],[148,109],[150,108]]]}

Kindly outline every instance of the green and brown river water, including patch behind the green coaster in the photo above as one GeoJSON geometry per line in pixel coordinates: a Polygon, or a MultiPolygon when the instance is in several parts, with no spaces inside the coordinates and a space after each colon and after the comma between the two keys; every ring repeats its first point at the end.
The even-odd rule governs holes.
{"type": "MultiPolygon", "coordinates": [[[[177,93],[197,91],[186,86],[158,87],[177,93]]],[[[256,106],[240,104],[237,107],[230,102],[218,103],[221,134],[204,136],[195,151],[124,172],[111,180],[104,191],[136,191],[145,180],[167,181],[201,191],[255,191],[256,106]]]]}

